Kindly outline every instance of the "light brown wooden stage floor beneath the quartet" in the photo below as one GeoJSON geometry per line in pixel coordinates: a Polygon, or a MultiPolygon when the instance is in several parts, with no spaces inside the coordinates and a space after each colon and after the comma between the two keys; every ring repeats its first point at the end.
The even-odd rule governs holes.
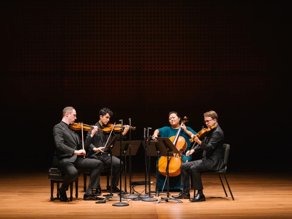
{"type": "MultiPolygon", "coordinates": [[[[46,173],[4,173],[0,177],[0,218],[292,218],[291,173],[229,173],[227,179],[234,201],[227,186],[228,197],[225,197],[217,175],[205,174],[202,175],[205,202],[191,203],[183,199],[183,203],[156,204],[128,200],[130,205],[125,207],[112,206],[119,200],[104,204],[84,201],[82,179],[81,176],[78,198],[74,188],[73,201],[63,203],[50,201],[50,180],[46,173]]],[[[134,174],[133,181],[144,179],[143,173],[134,174]]],[[[151,177],[151,181],[155,178],[151,177]]],[[[104,189],[105,176],[101,177],[101,183],[104,189]]],[[[151,186],[155,190],[155,184],[151,186]]],[[[142,192],[144,187],[136,186],[135,190],[142,192]]],[[[127,189],[129,192],[129,185],[127,189]]],[[[174,194],[178,193],[171,193],[174,194]]],[[[69,191],[67,195],[70,196],[69,191]]]]}

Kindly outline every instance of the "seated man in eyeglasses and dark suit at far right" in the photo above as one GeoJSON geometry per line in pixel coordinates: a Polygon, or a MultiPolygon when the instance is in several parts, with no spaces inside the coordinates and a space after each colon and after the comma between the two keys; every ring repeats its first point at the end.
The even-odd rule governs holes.
{"type": "Polygon", "coordinates": [[[203,150],[202,160],[191,161],[183,163],[180,166],[181,170],[181,186],[183,186],[182,191],[177,196],[172,196],[176,199],[189,199],[189,172],[191,172],[193,177],[193,187],[194,187],[194,198],[189,199],[191,202],[201,202],[206,201],[203,194],[203,185],[201,179],[201,172],[207,170],[220,170],[224,167],[223,165],[223,141],[224,134],[220,126],[218,125],[218,116],[215,111],[209,111],[204,113],[204,123],[208,128],[215,125],[215,128],[210,131],[211,133],[207,135],[201,141],[196,135],[192,135],[194,141],[197,145],[192,150],[186,152],[186,157],[193,154],[194,152],[203,150]],[[196,190],[198,193],[196,194],[196,190]]]}

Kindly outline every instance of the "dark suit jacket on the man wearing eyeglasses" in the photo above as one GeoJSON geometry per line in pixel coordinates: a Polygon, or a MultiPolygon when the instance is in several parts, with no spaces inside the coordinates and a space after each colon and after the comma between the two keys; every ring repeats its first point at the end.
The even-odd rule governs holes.
{"type": "Polygon", "coordinates": [[[224,134],[219,125],[217,125],[214,129],[215,130],[209,136],[203,139],[201,145],[198,144],[193,149],[195,152],[204,150],[202,162],[205,163],[209,170],[221,170],[224,167],[224,134]]]}

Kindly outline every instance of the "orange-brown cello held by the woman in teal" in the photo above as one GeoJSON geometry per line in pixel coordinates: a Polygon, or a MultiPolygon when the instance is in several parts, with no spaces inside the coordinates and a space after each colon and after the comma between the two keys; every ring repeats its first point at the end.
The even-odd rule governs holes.
{"type": "MultiPolygon", "coordinates": [[[[182,125],[188,121],[188,118],[185,116],[182,120],[180,127],[176,133],[176,136],[170,137],[170,141],[176,146],[178,151],[184,152],[187,148],[187,143],[184,137],[179,136],[179,132],[182,129],[182,125]]],[[[178,176],[180,174],[180,165],[182,164],[182,155],[181,154],[173,154],[173,157],[169,157],[169,176],[178,176]]],[[[166,176],[166,167],[167,167],[167,157],[162,156],[158,162],[158,170],[161,175],[166,176]]]]}

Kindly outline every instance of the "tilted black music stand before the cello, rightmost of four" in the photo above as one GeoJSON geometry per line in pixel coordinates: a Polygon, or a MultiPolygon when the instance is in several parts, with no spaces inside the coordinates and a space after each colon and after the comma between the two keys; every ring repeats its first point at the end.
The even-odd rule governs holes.
{"type": "Polygon", "coordinates": [[[167,156],[167,166],[166,166],[166,172],[167,172],[167,197],[161,197],[161,200],[158,200],[155,203],[159,203],[162,201],[169,201],[169,200],[174,200],[179,203],[183,203],[181,200],[174,199],[174,198],[169,198],[169,157],[173,156],[173,154],[180,154],[179,151],[177,150],[176,146],[170,141],[168,137],[156,137],[158,140],[158,149],[160,151],[160,154],[162,156],[167,156]]]}

